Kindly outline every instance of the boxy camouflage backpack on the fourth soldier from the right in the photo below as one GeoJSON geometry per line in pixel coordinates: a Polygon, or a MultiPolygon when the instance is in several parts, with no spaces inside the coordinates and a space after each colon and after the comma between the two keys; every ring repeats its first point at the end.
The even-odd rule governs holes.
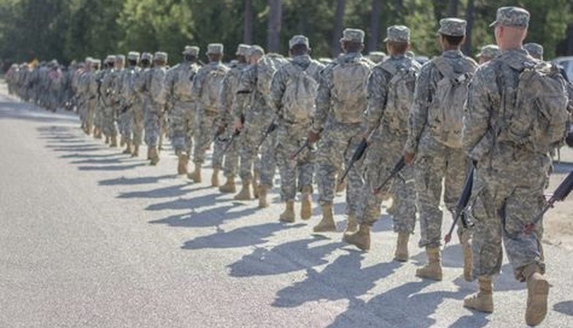
{"type": "Polygon", "coordinates": [[[367,107],[366,85],[370,75],[370,62],[355,58],[340,62],[332,68],[333,111],[337,122],[360,123],[367,107]]]}

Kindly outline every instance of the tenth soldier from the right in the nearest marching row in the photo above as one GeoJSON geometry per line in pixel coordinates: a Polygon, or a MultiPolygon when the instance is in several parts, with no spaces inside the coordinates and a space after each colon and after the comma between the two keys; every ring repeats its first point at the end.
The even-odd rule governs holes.
{"type": "Polygon", "coordinates": [[[154,66],[146,79],[148,101],[145,106],[145,143],[147,145],[147,158],[151,165],[159,162],[158,141],[161,118],[167,101],[165,91],[165,78],[167,76],[167,53],[156,52],[153,56],[154,66]]]}

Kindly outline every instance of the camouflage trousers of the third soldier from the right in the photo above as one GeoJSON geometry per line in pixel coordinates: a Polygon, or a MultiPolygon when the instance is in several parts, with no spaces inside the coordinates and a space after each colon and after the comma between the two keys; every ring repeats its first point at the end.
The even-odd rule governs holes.
{"type": "Polygon", "coordinates": [[[413,233],[416,222],[416,190],[414,169],[405,167],[400,177],[393,178],[380,193],[374,190],[390,176],[390,171],[402,156],[407,135],[380,127],[382,134],[376,134],[371,140],[364,159],[366,183],[364,183],[358,213],[358,222],[372,225],[380,217],[382,201],[391,196],[393,205],[388,209],[394,222],[394,232],[413,233]]]}

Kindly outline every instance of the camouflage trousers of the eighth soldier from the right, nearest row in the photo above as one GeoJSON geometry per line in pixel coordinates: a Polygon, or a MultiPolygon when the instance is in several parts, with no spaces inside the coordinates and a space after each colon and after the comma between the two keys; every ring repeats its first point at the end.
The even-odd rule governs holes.
{"type": "Polygon", "coordinates": [[[193,162],[198,166],[205,163],[205,153],[211,146],[211,143],[213,143],[213,157],[211,158],[211,162],[213,167],[221,168],[223,166],[223,149],[225,148],[225,144],[214,137],[215,130],[217,130],[217,113],[202,111],[197,119],[199,120],[199,124],[193,162]]]}

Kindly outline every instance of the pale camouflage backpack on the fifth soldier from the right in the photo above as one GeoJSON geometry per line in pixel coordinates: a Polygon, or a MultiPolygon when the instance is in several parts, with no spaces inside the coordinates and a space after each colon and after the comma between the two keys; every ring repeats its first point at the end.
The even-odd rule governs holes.
{"type": "Polygon", "coordinates": [[[283,117],[290,123],[308,123],[315,113],[319,84],[313,76],[319,68],[311,63],[306,69],[288,65],[288,81],[282,96],[283,117]]]}

